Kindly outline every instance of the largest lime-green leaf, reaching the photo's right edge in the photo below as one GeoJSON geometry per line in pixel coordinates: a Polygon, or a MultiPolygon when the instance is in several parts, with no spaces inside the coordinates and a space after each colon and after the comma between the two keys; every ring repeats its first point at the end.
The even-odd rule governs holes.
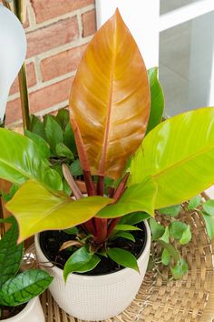
{"type": "Polygon", "coordinates": [[[213,164],[214,107],[205,107],[151,130],[131,160],[129,185],[152,176],[158,184],[155,208],[178,205],[214,182],[213,164]]]}

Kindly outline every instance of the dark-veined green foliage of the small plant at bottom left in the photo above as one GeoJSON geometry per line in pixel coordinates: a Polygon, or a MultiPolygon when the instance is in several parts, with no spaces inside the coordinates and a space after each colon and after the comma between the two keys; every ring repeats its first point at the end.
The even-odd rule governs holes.
{"type": "Polygon", "coordinates": [[[5,221],[11,227],[0,240],[0,319],[4,320],[10,317],[9,307],[21,306],[37,297],[53,280],[42,269],[20,272],[24,245],[17,245],[18,226],[15,217],[11,216],[5,221]]]}

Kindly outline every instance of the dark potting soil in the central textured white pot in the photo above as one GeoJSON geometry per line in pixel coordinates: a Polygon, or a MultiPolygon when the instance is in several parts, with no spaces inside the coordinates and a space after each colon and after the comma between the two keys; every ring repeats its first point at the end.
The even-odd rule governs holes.
{"type": "MultiPolygon", "coordinates": [[[[131,234],[135,238],[135,242],[120,237],[111,242],[111,247],[119,247],[124,250],[128,250],[135,257],[140,257],[146,245],[147,232],[145,224],[143,222],[136,226],[141,228],[141,230],[131,231],[131,234]]],[[[40,246],[44,252],[44,256],[47,257],[53,263],[53,265],[63,269],[67,259],[72,255],[72,253],[67,249],[59,252],[59,249],[64,242],[74,239],[74,237],[75,236],[66,234],[65,232],[63,232],[63,230],[48,230],[41,233],[40,246]]],[[[45,266],[45,263],[43,263],[43,265],[45,266]]],[[[97,267],[93,268],[92,271],[82,273],[81,275],[98,276],[110,274],[117,272],[122,268],[124,267],[121,267],[120,265],[112,261],[111,258],[101,256],[101,261],[97,265],[97,267]]]]}

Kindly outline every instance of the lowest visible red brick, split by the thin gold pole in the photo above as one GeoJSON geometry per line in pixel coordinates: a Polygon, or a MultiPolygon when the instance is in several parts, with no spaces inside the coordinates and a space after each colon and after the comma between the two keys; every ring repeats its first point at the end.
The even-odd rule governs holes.
{"type": "MultiPolygon", "coordinates": [[[[55,106],[69,98],[73,77],[67,78],[59,83],[44,87],[30,94],[31,113],[42,111],[48,107],[55,106]]],[[[22,118],[20,99],[11,101],[6,106],[6,124],[13,123],[22,118]]]]}

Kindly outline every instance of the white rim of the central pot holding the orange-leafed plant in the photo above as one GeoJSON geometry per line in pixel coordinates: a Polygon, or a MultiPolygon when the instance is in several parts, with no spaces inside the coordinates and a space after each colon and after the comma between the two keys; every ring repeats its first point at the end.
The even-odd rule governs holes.
{"type": "MultiPolygon", "coordinates": [[[[141,262],[141,260],[143,259],[143,257],[148,253],[148,251],[150,252],[150,248],[151,248],[151,230],[150,230],[150,226],[149,226],[149,224],[148,224],[148,222],[147,222],[147,220],[144,220],[143,221],[144,222],[144,224],[145,224],[145,227],[146,227],[146,235],[147,235],[147,238],[146,238],[146,243],[145,243],[145,247],[144,247],[144,249],[143,249],[143,251],[142,251],[142,253],[141,253],[141,256],[137,259],[137,261],[138,261],[138,263],[139,262],[141,262]]],[[[36,234],[35,236],[34,236],[34,244],[35,244],[35,248],[36,248],[36,250],[39,250],[41,253],[42,253],[42,255],[43,255],[43,257],[44,257],[44,261],[45,262],[49,262],[49,263],[51,263],[51,261],[47,258],[47,257],[45,257],[45,255],[44,255],[44,252],[43,252],[43,250],[42,250],[42,248],[41,248],[41,246],[40,246],[40,241],[39,241],[39,235],[40,234],[36,234]]],[[[43,261],[43,262],[44,262],[43,261]]],[[[44,264],[44,263],[43,263],[44,264]]],[[[47,267],[47,268],[49,268],[49,267],[47,267]]],[[[63,269],[62,268],[59,268],[59,267],[56,267],[56,266],[53,266],[53,267],[51,267],[51,269],[53,270],[53,272],[57,275],[57,276],[59,276],[59,275],[63,275],[63,269]]],[[[125,275],[126,273],[128,273],[128,272],[130,272],[130,271],[133,271],[133,272],[135,272],[136,274],[139,274],[137,271],[134,271],[132,268],[130,268],[130,267],[124,267],[124,268],[122,268],[121,270],[119,270],[119,271],[117,271],[117,272],[113,272],[113,273],[107,273],[107,274],[103,274],[103,275],[94,275],[94,276],[86,276],[86,275],[81,275],[81,274],[73,274],[73,273],[71,273],[71,274],[69,274],[69,276],[68,276],[68,279],[67,279],[67,282],[71,279],[71,278],[73,278],[73,279],[84,279],[84,280],[94,280],[94,278],[96,278],[96,279],[103,279],[103,278],[105,278],[105,279],[109,279],[110,277],[115,277],[116,275],[125,275]]]]}

